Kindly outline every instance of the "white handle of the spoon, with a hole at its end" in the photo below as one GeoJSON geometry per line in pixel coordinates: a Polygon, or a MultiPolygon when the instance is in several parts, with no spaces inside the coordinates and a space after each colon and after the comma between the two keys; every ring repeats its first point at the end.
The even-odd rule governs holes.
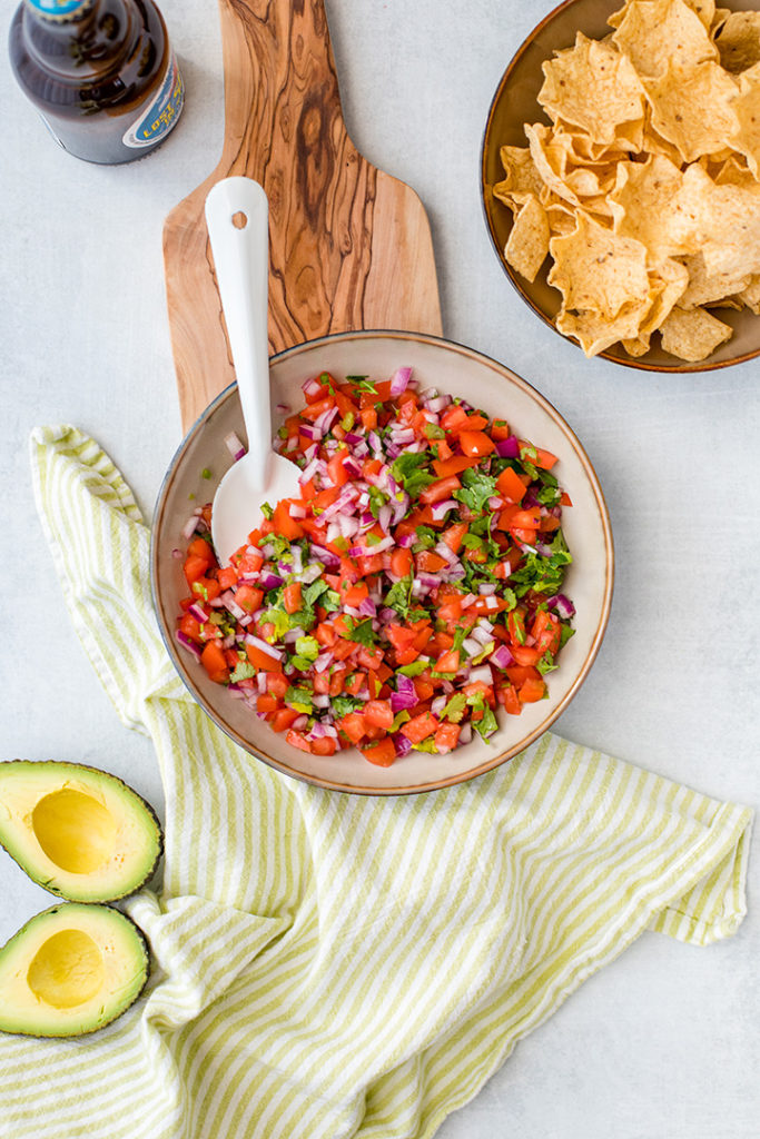
{"type": "Polygon", "coordinates": [[[248,436],[250,475],[262,490],[272,450],[269,399],[269,203],[251,178],[224,178],[206,197],[206,224],[248,436]]]}

